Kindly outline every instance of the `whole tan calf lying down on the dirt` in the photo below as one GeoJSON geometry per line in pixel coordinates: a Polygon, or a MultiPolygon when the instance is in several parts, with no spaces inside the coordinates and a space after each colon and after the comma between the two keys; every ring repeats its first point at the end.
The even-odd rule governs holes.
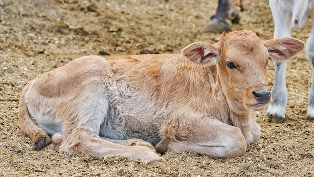
{"type": "Polygon", "coordinates": [[[60,151],[151,163],[163,160],[153,147],[163,140],[158,152],[238,157],[259,140],[256,113],[272,100],[268,59],[303,50],[295,38],[242,30],[181,54],[81,57],[25,86],[19,124],[33,150],[52,140],[60,151]]]}

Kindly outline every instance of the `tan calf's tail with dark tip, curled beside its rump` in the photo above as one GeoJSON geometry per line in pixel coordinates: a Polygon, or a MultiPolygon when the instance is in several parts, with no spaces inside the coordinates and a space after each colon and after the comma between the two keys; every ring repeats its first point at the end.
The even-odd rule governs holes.
{"type": "Polygon", "coordinates": [[[19,125],[22,133],[28,135],[34,143],[33,150],[39,150],[51,142],[49,135],[34,122],[28,112],[27,103],[25,102],[25,95],[33,82],[29,82],[23,88],[18,105],[19,109],[19,125]]]}

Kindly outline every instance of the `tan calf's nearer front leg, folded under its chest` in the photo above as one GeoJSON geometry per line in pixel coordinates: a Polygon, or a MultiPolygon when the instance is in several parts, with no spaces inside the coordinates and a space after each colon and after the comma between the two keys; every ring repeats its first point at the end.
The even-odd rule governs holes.
{"type": "Polygon", "coordinates": [[[238,127],[214,118],[202,117],[194,119],[189,129],[186,137],[169,140],[167,150],[201,152],[222,158],[239,157],[246,152],[246,140],[238,127]]]}

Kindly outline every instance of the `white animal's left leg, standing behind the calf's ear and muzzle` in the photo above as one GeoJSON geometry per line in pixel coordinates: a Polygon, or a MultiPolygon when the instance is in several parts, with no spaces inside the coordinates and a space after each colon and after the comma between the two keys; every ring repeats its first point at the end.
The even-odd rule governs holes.
{"type": "MultiPolygon", "coordinates": [[[[270,0],[269,5],[274,19],[274,38],[291,37],[291,10],[284,7],[284,2],[270,0]]],[[[273,102],[269,105],[267,116],[273,116],[273,123],[284,120],[284,109],[287,105],[285,70],[287,62],[275,62],[275,80],[271,90],[273,102]]]]}

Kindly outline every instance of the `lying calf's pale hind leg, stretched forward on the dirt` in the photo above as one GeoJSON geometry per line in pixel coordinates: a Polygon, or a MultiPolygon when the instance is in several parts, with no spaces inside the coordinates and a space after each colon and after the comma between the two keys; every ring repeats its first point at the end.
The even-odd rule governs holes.
{"type": "MultiPolygon", "coordinates": [[[[60,112],[63,123],[60,151],[95,157],[122,155],[147,164],[163,161],[147,147],[123,146],[99,137],[100,126],[108,114],[108,104],[115,98],[113,86],[110,78],[89,79],[86,89],[80,93],[80,97],[73,99],[74,102],[61,102],[63,105],[59,106],[66,110],[60,112]]],[[[60,133],[55,135],[55,142],[56,139],[60,140],[60,133]]]]}

